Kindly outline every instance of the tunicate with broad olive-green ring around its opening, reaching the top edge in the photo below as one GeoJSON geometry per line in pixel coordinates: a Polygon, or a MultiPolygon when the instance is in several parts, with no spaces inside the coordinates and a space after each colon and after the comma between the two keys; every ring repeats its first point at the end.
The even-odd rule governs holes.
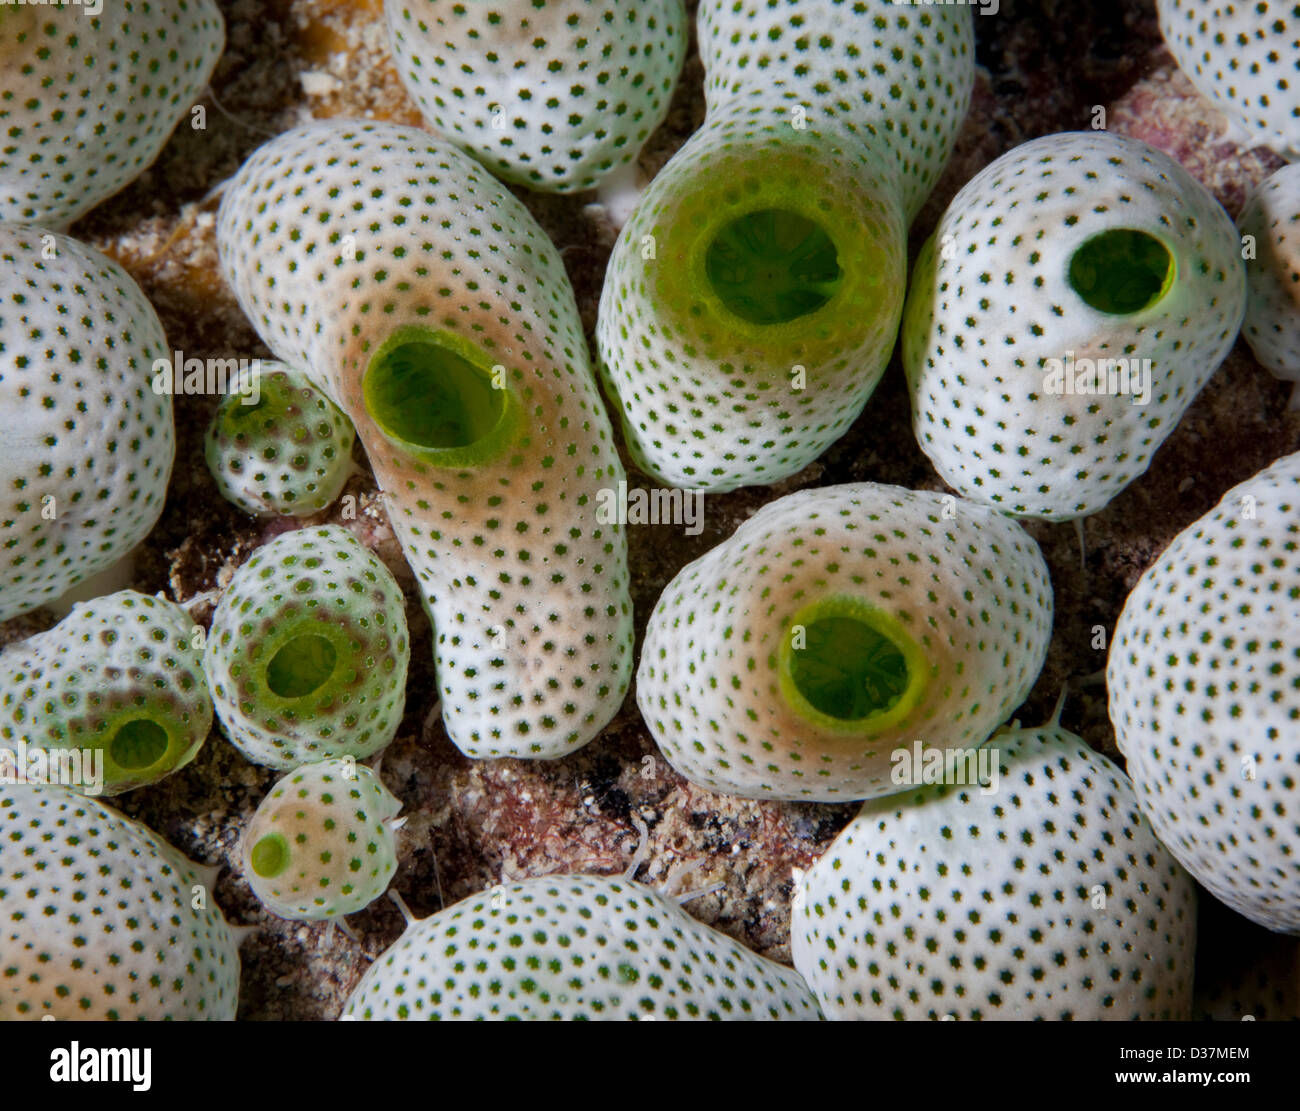
{"type": "Polygon", "coordinates": [[[619,236],[597,347],[637,465],[723,491],[801,470],[884,374],[971,12],[705,0],[699,53],[708,114],[619,236]]]}

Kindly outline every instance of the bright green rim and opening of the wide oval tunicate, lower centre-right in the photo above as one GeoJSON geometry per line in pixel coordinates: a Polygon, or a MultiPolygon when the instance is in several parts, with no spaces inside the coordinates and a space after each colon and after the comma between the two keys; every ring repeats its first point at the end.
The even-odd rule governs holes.
{"type": "Polygon", "coordinates": [[[850,596],[826,598],[796,613],[779,668],[793,709],[845,733],[902,721],[930,677],[924,652],[902,622],[850,596]]]}

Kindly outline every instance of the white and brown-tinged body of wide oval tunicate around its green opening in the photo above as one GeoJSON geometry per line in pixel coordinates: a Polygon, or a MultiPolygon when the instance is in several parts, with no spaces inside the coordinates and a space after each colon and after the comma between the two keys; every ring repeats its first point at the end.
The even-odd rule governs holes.
{"type": "Polygon", "coordinates": [[[711,790],[872,798],[901,789],[900,746],[980,745],[1034,686],[1050,634],[1046,564],[1018,524],[927,491],[828,486],[764,505],[668,583],[637,702],[668,761],[711,790]],[[818,622],[855,615],[913,680],[875,720],[818,712],[792,680],[818,622]]]}

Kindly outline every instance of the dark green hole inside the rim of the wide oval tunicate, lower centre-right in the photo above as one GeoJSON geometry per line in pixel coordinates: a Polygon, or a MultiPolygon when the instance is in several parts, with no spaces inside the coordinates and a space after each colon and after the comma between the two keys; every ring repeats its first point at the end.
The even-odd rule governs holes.
{"type": "Polygon", "coordinates": [[[853,617],[822,617],[805,626],[805,645],[790,652],[790,678],[828,717],[855,721],[889,709],[907,689],[902,651],[853,617]]]}

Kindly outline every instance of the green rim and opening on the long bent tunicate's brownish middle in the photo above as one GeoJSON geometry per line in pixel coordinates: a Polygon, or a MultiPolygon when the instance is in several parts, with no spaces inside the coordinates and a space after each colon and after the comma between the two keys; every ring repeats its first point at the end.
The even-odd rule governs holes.
{"type": "Polygon", "coordinates": [[[519,404],[508,370],[452,333],[403,327],[376,351],[361,383],[365,411],[394,443],[448,466],[498,457],[519,404]]]}

